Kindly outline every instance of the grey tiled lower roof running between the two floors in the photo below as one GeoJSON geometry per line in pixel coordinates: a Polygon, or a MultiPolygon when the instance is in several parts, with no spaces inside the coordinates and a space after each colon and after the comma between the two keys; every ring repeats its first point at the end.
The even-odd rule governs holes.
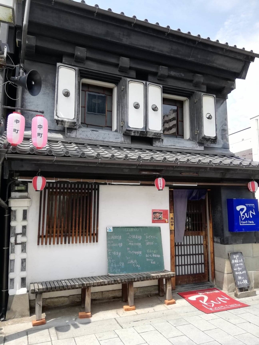
{"type": "MultiPolygon", "coordinates": [[[[93,145],[75,142],[64,142],[49,140],[46,147],[36,149],[31,139],[25,138],[21,144],[17,146],[4,147],[6,144],[6,133],[0,137],[0,147],[6,148],[8,153],[31,154],[39,156],[65,156],[65,157],[81,157],[98,160],[121,160],[121,161],[143,161],[144,162],[164,162],[164,163],[184,163],[186,166],[193,164],[201,165],[221,165],[221,166],[240,166],[240,167],[259,167],[259,162],[251,159],[240,158],[235,155],[213,155],[203,152],[188,151],[166,151],[145,149],[145,148],[128,148],[111,146],[111,145],[93,145]]],[[[37,159],[37,158],[36,158],[37,159]]],[[[73,164],[73,159],[71,159],[73,164]]]]}

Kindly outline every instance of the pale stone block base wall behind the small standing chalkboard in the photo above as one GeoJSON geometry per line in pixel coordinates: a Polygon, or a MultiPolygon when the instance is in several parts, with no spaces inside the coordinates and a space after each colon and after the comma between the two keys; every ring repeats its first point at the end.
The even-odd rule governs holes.
{"type": "Polygon", "coordinates": [[[259,288],[259,243],[223,245],[214,243],[215,281],[224,290],[236,290],[228,253],[242,252],[251,287],[259,288]]]}

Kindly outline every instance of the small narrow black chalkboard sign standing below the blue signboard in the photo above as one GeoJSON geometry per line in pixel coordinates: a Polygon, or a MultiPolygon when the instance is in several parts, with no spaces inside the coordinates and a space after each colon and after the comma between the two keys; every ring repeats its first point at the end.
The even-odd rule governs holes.
{"type": "Polygon", "coordinates": [[[242,252],[228,253],[228,256],[237,292],[242,292],[246,288],[248,289],[248,291],[251,291],[250,280],[247,273],[246,265],[244,264],[242,252]]]}

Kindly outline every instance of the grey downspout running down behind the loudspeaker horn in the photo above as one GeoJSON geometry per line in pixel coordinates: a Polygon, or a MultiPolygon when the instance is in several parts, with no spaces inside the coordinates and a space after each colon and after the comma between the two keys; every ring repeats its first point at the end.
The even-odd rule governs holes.
{"type": "MultiPolygon", "coordinates": [[[[24,72],[24,62],[25,62],[25,50],[26,50],[26,38],[28,32],[28,23],[29,23],[29,12],[30,12],[31,0],[26,0],[25,11],[23,17],[23,26],[22,26],[22,42],[21,42],[21,58],[20,58],[20,71],[19,76],[23,76],[24,72]]],[[[17,88],[17,107],[21,108],[21,96],[22,96],[22,87],[18,86],[17,88]]]]}

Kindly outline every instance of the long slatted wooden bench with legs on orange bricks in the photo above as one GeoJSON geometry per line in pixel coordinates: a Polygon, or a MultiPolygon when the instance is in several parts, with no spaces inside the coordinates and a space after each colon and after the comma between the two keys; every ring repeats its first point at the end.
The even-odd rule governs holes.
{"type": "Polygon", "coordinates": [[[84,278],[50,280],[49,282],[38,282],[30,284],[31,294],[36,294],[35,314],[36,321],[32,321],[33,326],[43,325],[46,323],[42,318],[42,293],[53,291],[64,291],[81,288],[81,306],[85,308],[84,312],[79,313],[79,318],[91,317],[91,287],[122,284],[122,300],[128,301],[128,305],[124,306],[125,311],[134,310],[134,293],[133,283],[143,282],[144,280],[158,279],[158,292],[160,296],[164,296],[164,279],[166,299],[165,304],[174,304],[172,299],[171,278],[175,276],[174,272],[167,270],[161,272],[139,273],[139,274],[123,274],[121,276],[94,276],[84,278]]]}

